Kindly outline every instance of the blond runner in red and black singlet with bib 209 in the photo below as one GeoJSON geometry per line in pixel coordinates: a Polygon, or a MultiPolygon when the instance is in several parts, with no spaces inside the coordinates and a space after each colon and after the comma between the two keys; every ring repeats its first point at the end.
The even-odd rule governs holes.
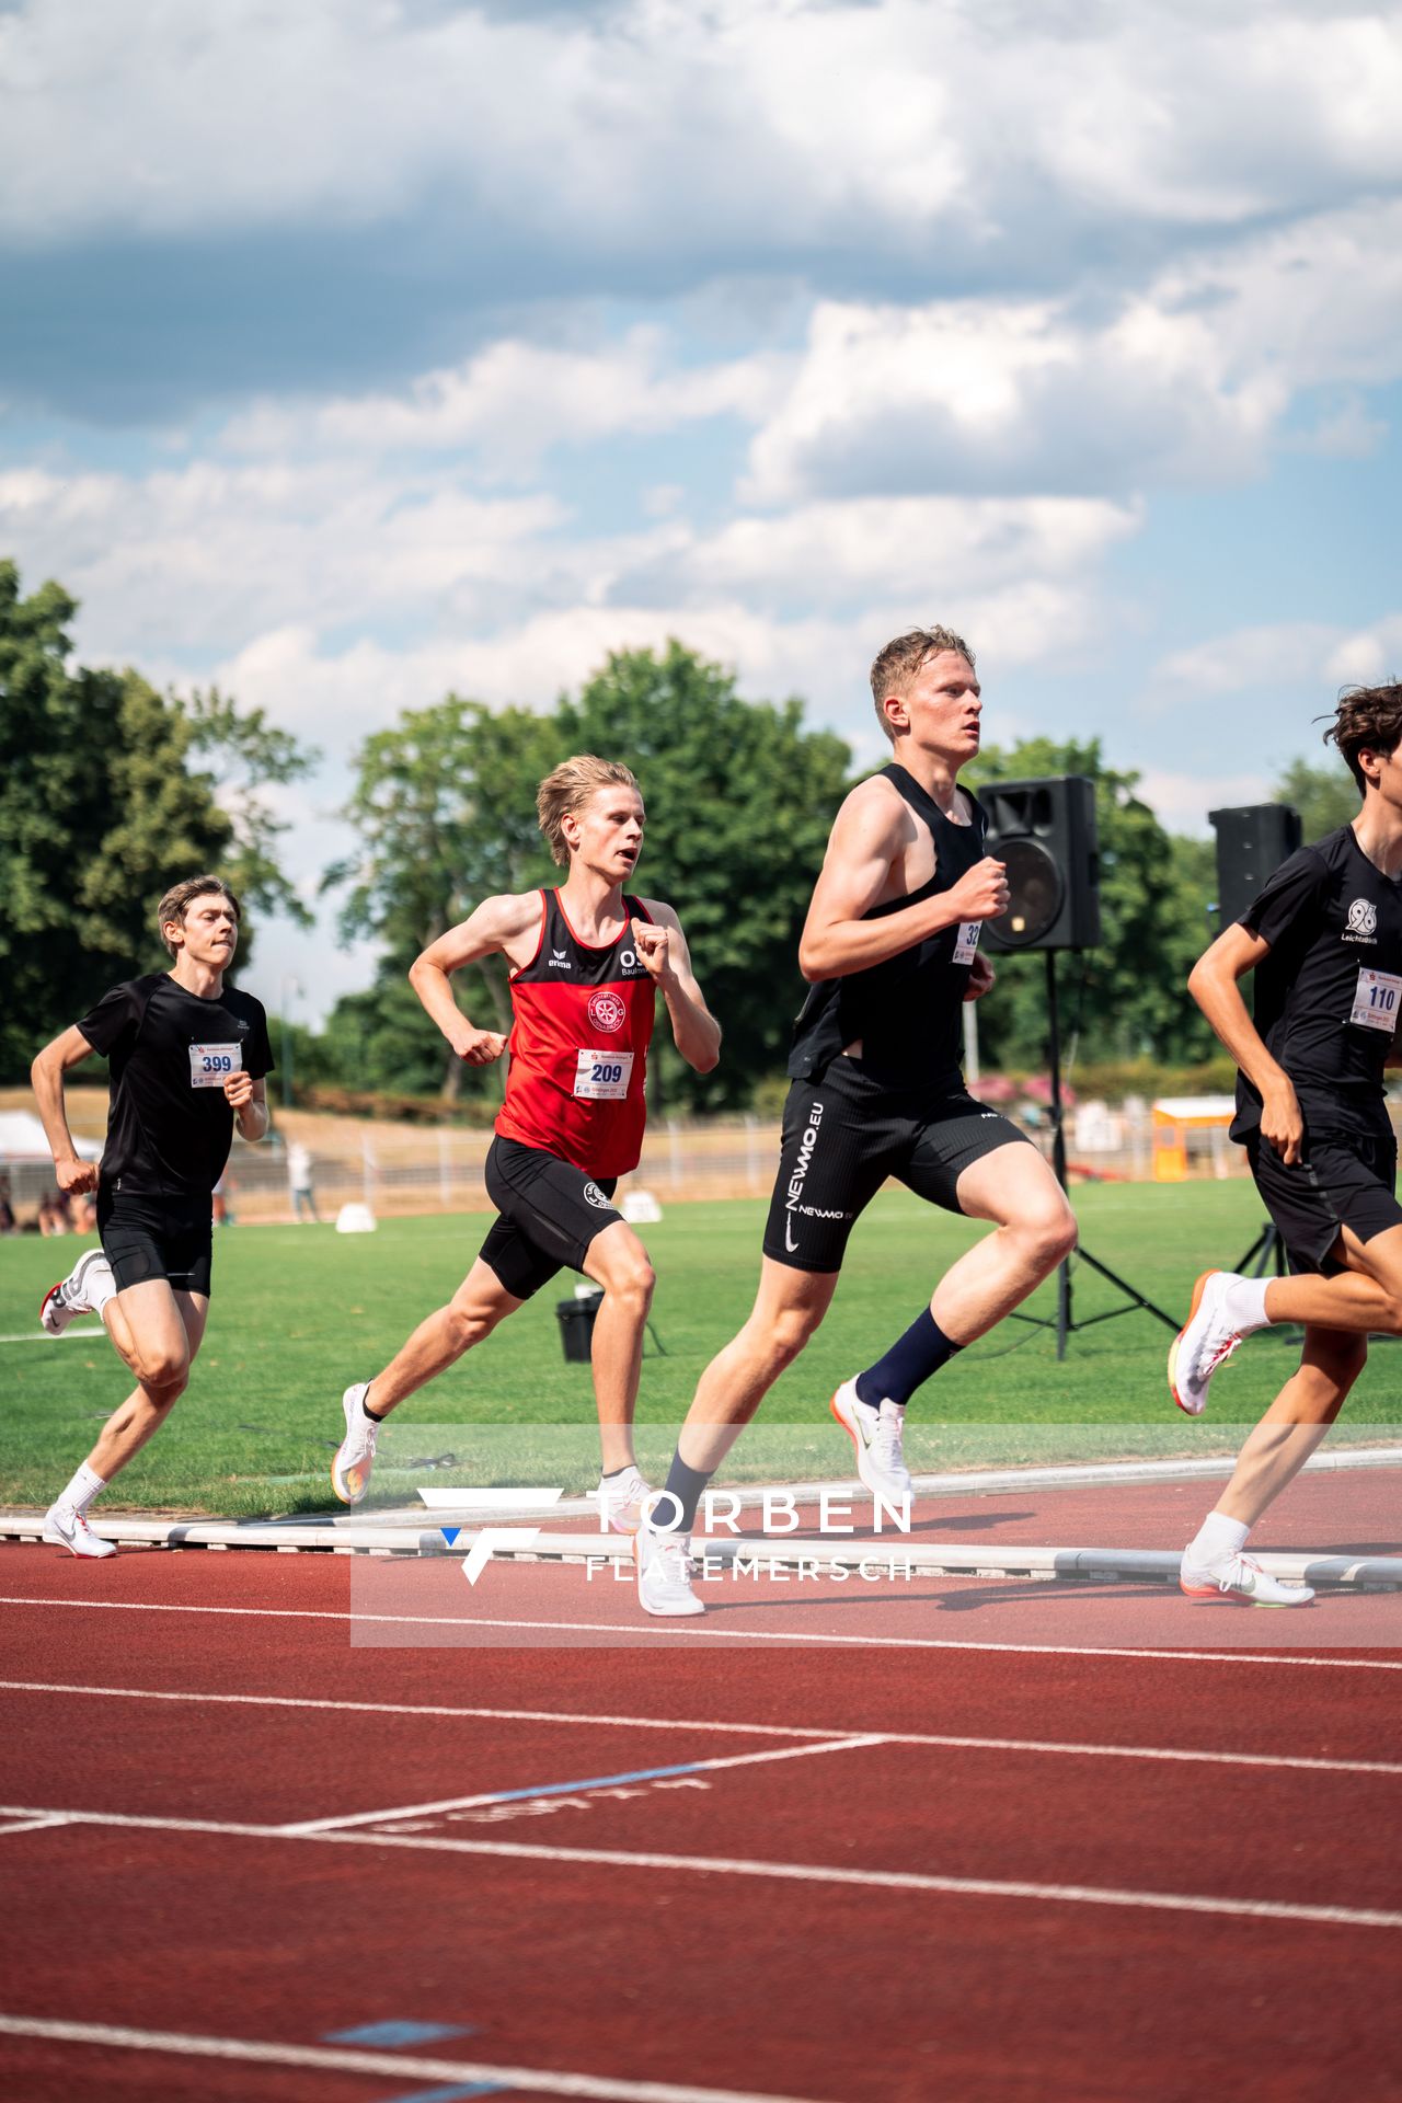
{"type": "Polygon", "coordinates": [[[565,759],[540,782],[536,810],[551,854],[568,869],[561,887],[483,900],[410,972],[467,1066],[511,1056],[486,1167],[500,1218],[448,1306],[414,1329],[383,1373],[345,1390],[332,1487],[343,1504],[359,1504],[383,1417],[572,1264],[603,1287],[593,1335],[599,1499],[626,1533],[647,1495],[633,1457],[633,1403],[654,1277],[612,1199],[643,1148],[658,991],[677,1049],[698,1073],[717,1064],[721,1030],[692,976],[673,908],[624,892],[643,850],[643,797],[628,768],[591,755],[565,759]],[[511,1039],[475,1028],[448,982],[492,955],[511,963],[511,1039]]]}

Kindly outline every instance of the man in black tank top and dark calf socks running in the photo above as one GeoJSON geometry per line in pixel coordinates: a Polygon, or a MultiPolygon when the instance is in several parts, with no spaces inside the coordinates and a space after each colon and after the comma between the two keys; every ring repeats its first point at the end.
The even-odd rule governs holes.
{"type": "MultiPolygon", "coordinates": [[[[1007,904],[984,852],[984,812],[958,787],[980,747],[973,656],[948,629],[889,644],[872,698],[895,763],[843,803],[813,890],[799,963],[811,993],[788,1062],[780,1171],[750,1321],[702,1375],[668,1491],[685,1535],[710,1474],[828,1310],[847,1237],[895,1176],[916,1197],[992,1220],[898,1342],[832,1396],[872,1495],[910,1493],[902,1457],[910,1394],[984,1335],[1076,1239],[1055,1176],[958,1068],[963,1003],[992,984],[980,930],[1007,904]]],[[[662,1527],[668,1510],[658,1512],[662,1527]]],[[[679,1537],[639,1535],[650,1613],[696,1613],[679,1537]],[[656,1567],[656,1577],[654,1577],[656,1567]]]]}

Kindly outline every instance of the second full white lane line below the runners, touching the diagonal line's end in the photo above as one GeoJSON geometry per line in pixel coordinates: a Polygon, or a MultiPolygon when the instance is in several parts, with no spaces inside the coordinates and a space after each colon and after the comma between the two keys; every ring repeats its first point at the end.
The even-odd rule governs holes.
{"type": "MultiPolygon", "coordinates": [[[[351,1716],[427,1716],[431,1720],[563,1722],[618,1731],[700,1731],[723,1737],[809,1737],[824,1743],[849,1735],[849,1724],[717,1722],[700,1716],[593,1716],[586,1710],[450,1708],[418,1701],[324,1701],[315,1695],[219,1695],[170,1687],[86,1687],[69,1680],[0,1680],[0,1693],[97,1695],[114,1701],[195,1701],[235,1708],[332,1710],[351,1716]]],[[[1324,1775],[1402,1775],[1402,1760],[1328,1760],[1307,1752],[1219,1752],[1209,1745],[1114,1745],[1061,1737],[971,1737],[952,1731],[881,1731],[872,1743],[933,1745],[946,1752],[1034,1752],[1078,1760],[1179,1760],[1200,1767],[1280,1767],[1324,1775]]]]}

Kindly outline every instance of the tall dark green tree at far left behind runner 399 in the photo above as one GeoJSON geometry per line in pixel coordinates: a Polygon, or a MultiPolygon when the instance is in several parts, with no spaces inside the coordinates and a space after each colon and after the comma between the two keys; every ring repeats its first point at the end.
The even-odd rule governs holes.
{"type": "MultiPolygon", "coordinates": [[[[309,763],[231,702],[217,717],[162,696],[137,671],[74,667],[76,601],[61,585],[21,597],[0,562],[0,1077],[21,1079],[38,1045],[84,1014],[105,982],[158,969],[153,906],[179,877],[223,869],[252,906],[298,911],[259,797],[265,778],[309,763]],[[198,765],[242,740],[242,791],[227,808],[198,765]]],[[[246,967],[250,934],[240,963],[246,967]]]]}

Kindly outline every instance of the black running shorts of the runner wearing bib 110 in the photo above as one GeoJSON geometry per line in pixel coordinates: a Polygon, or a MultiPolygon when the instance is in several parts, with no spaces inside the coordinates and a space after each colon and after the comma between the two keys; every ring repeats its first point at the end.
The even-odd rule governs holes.
{"type": "Polygon", "coordinates": [[[1398,1205],[1398,1140],[1387,1123],[1366,1136],[1312,1138],[1305,1155],[1286,1167],[1259,1131],[1246,1140],[1246,1159],[1261,1203],[1276,1222],[1291,1270],[1335,1277],[1347,1266],[1335,1255],[1339,1230],[1352,1226],[1360,1241],[1402,1226],[1398,1205]]]}

